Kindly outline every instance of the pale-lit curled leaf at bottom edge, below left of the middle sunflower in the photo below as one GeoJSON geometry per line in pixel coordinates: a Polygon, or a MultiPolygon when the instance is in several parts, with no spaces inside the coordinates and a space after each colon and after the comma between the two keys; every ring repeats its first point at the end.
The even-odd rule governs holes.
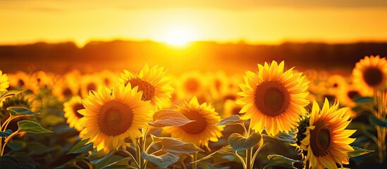
{"type": "Polygon", "coordinates": [[[147,154],[144,151],[141,152],[141,157],[154,163],[160,168],[167,168],[169,165],[178,162],[179,156],[177,154],[166,153],[161,156],[154,156],[152,154],[147,154]]]}

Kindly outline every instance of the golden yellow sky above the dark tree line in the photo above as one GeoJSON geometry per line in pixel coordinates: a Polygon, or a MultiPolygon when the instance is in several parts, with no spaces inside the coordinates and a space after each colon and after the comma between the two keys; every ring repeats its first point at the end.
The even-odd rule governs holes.
{"type": "Polygon", "coordinates": [[[0,44],[387,41],[385,0],[0,0],[0,44]]]}

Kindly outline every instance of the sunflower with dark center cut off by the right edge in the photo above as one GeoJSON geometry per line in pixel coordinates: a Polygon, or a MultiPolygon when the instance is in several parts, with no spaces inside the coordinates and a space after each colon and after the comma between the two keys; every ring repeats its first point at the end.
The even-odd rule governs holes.
{"type": "Polygon", "coordinates": [[[353,83],[363,96],[373,96],[375,89],[386,87],[387,61],[380,56],[365,56],[352,70],[353,83]]]}

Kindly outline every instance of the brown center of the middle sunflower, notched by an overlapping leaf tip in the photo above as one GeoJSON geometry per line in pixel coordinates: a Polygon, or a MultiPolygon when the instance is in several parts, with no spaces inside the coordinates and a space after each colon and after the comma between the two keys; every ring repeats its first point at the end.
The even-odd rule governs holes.
{"type": "Polygon", "coordinates": [[[207,121],[203,116],[199,113],[199,111],[188,111],[188,113],[184,113],[185,117],[190,120],[195,120],[195,122],[188,123],[187,125],[181,126],[181,128],[190,134],[197,134],[206,129],[207,121]]]}

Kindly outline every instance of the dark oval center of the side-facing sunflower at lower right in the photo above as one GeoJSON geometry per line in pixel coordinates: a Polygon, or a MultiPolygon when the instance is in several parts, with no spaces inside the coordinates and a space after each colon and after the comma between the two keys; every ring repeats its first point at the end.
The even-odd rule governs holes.
{"type": "Polygon", "coordinates": [[[331,148],[331,132],[324,122],[317,122],[310,132],[310,146],[314,156],[324,156],[331,148]]]}

